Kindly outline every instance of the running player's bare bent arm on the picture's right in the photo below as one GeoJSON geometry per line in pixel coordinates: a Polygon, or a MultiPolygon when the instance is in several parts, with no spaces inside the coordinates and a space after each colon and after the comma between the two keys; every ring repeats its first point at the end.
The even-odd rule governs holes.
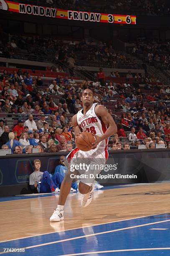
{"type": "MultiPolygon", "coordinates": [[[[117,133],[117,125],[112,118],[112,115],[109,114],[106,108],[103,105],[97,105],[95,108],[96,115],[101,118],[101,120],[107,125],[108,129],[102,136],[95,136],[96,141],[93,143],[93,149],[99,144],[100,141],[109,138],[114,133],[117,133]]],[[[94,135],[94,134],[93,134],[94,135]]]]}

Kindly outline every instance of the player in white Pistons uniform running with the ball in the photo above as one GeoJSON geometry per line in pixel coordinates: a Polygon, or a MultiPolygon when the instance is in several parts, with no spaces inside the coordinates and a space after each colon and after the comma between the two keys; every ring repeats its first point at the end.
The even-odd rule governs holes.
{"type": "MultiPolygon", "coordinates": [[[[96,164],[99,162],[99,160],[101,164],[105,164],[108,158],[108,138],[117,132],[117,126],[114,123],[112,116],[108,113],[107,109],[104,108],[103,105],[93,103],[94,94],[92,90],[85,89],[81,94],[81,101],[83,103],[83,109],[79,110],[79,112],[74,115],[72,120],[75,127],[75,136],[77,138],[82,131],[87,131],[95,136],[95,142],[93,143],[91,150],[86,152],[79,150],[79,148],[74,148],[66,157],[66,160],[74,163],[77,163],[79,160],[83,163],[85,159],[92,159],[92,161],[94,161],[96,164]]],[[[99,174],[100,172],[101,170],[97,170],[95,174],[99,174]]],[[[63,208],[66,198],[70,192],[71,182],[73,180],[70,177],[71,174],[73,174],[73,172],[71,172],[68,168],[68,171],[61,184],[58,206],[50,218],[51,222],[64,219],[63,208]]],[[[80,179],[79,192],[82,194],[82,207],[88,206],[91,202],[94,190],[93,181],[91,184],[89,184],[87,180],[80,179]]]]}

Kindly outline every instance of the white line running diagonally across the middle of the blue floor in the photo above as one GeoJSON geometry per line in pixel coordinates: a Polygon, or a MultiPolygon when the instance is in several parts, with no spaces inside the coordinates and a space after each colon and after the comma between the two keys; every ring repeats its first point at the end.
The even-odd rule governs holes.
{"type": "MultiPolygon", "coordinates": [[[[53,242],[49,242],[49,243],[41,243],[41,244],[38,244],[35,246],[25,247],[25,249],[47,246],[47,245],[51,245],[51,244],[55,244],[55,243],[62,243],[62,242],[71,241],[71,240],[75,240],[75,239],[87,238],[87,237],[97,236],[97,235],[101,235],[101,234],[108,234],[108,233],[113,233],[113,232],[117,232],[117,231],[132,229],[132,228],[140,228],[140,227],[145,227],[145,226],[154,225],[154,224],[158,224],[158,223],[164,223],[164,222],[168,222],[168,221],[170,221],[170,220],[162,220],[162,221],[157,221],[157,222],[152,222],[152,223],[147,223],[147,224],[142,224],[142,225],[136,225],[136,226],[127,227],[127,228],[119,228],[119,229],[114,229],[114,230],[109,230],[109,231],[104,231],[104,232],[93,233],[93,234],[85,235],[85,236],[77,236],[77,237],[73,237],[73,238],[67,238],[67,239],[53,241],[53,242]]],[[[0,254],[4,254],[4,253],[7,253],[7,252],[1,252],[0,254]]],[[[77,254],[77,255],[79,255],[79,254],[77,254]]]]}

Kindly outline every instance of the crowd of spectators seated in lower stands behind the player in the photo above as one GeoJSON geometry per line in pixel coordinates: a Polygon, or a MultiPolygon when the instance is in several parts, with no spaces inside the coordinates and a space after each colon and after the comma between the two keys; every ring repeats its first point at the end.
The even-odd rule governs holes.
{"type": "Polygon", "coordinates": [[[115,135],[111,137],[109,145],[112,141],[114,143],[109,149],[129,149],[121,144],[123,141],[132,147],[146,142],[149,146],[153,143],[152,148],[157,144],[168,147],[169,87],[163,89],[157,83],[147,85],[147,76],[147,94],[143,94],[139,87],[142,80],[139,74],[130,83],[128,79],[133,75],[128,72],[125,84],[107,82],[101,74],[104,74],[102,69],[98,73],[98,82],[83,81],[80,84],[73,77],[69,79],[58,75],[44,87],[41,77],[33,78],[21,69],[14,70],[12,74],[4,70],[0,76],[0,113],[8,115],[14,123],[9,128],[8,119],[0,120],[0,147],[10,148],[13,154],[30,154],[33,148],[38,148],[39,153],[71,151],[75,146],[72,116],[81,110],[81,92],[86,88],[94,91],[94,102],[105,105],[117,123],[117,141],[115,135]],[[154,90],[160,90],[160,94],[154,94],[154,90]],[[163,95],[163,100],[160,95],[163,95]],[[110,102],[112,105],[108,105],[110,102]],[[150,108],[147,107],[148,102],[150,108]]]}

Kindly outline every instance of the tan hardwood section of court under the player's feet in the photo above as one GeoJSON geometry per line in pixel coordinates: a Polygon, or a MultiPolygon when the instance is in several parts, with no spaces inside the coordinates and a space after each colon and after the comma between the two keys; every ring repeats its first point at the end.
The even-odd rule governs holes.
{"type": "Polygon", "coordinates": [[[59,223],[49,222],[58,195],[0,202],[0,241],[170,212],[168,183],[94,190],[86,208],[80,206],[80,197],[79,192],[69,195],[65,220],[59,223]]]}

